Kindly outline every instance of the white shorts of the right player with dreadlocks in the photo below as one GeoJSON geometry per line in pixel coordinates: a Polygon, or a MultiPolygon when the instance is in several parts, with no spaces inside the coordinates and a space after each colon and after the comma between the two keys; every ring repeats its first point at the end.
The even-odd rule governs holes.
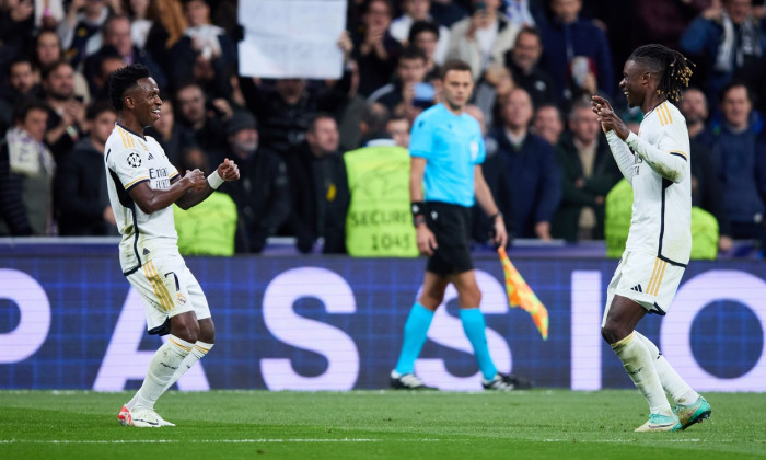
{"type": "Polygon", "coordinates": [[[655,255],[625,251],[606,288],[606,308],[601,325],[606,321],[615,294],[635,300],[649,313],[668,313],[684,269],[655,255]]]}

